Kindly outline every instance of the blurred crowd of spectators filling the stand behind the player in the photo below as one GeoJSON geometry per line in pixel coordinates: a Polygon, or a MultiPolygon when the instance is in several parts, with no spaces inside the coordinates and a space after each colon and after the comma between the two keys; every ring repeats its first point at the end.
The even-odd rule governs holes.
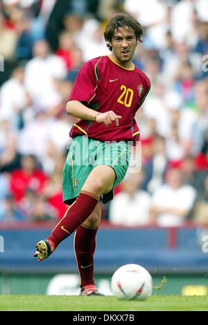
{"type": "Polygon", "coordinates": [[[152,82],[136,117],[142,169],[125,176],[103,218],[208,223],[208,1],[1,0],[0,10],[0,222],[64,214],[76,122],[65,105],[83,63],[110,53],[108,19],[129,12],[144,27],[134,62],[152,82]]]}

